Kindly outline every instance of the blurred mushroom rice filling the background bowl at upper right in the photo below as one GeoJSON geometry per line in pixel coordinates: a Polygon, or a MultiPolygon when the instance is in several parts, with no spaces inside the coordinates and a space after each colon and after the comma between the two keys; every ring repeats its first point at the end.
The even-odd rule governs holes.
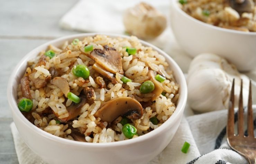
{"type": "Polygon", "coordinates": [[[256,0],[179,0],[190,16],[218,27],[256,32],[256,0]]]}

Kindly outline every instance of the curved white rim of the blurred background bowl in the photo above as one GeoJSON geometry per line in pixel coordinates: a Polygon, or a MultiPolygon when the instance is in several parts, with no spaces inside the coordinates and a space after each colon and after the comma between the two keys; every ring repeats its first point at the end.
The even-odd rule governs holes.
{"type": "Polygon", "coordinates": [[[212,28],[212,29],[215,29],[215,30],[219,30],[219,31],[222,31],[222,32],[236,33],[236,34],[240,34],[240,35],[256,35],[256,32],[243,32],[243,31],[238,31],[238,30],[225,29],[225,28],[222,28],[222,27],[218,27],[218,26],[215,26],[215,25],[208,24],[208,23],[205,23],[203,21],[197,20],[194,17],[192,17],[189,14],[187,14],[185,11],[183,11],[178,6],[178,3],[179,3],[178,0],[171,0],[171,1],[172,1],[172,5],[174,6],[174,8],[176,8],[176,10],[179,13],[181,13],[183,16],[185,16],[186,18],[190,19],[191,21],[194,21],[194,22],[196,22],[198,24],[201,24],[201,25],[203,25],[205,27],[212,28]]]}

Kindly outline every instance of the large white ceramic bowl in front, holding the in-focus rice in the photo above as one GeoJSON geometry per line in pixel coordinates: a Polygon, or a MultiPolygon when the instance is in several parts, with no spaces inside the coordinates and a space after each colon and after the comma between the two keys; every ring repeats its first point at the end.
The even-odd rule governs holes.
{"type": "MultiPolygon", "coordinates": [[[[150,46],[158,53],[162,54],[170,64],[174,72],[177,83],[180,84],[180,98],[173,115],[163,125],[156,130],[137,137],[135,139],[119,141],[113,143],[85,143],[71,141],[49,134],[32,123],[30,123],[19,111],[17,107],[17,86],[25,72],[27,61],[47,49],[49,44],[57,47],[64,41],[72,41],[75,38],[83,39],[93,36],[95,33],[84,33],[62,37],[47,42],[29,52],[16,66],[12,72],[7,89],[8,101],[11,107],[15,125],[26,144],[49,164],[68,163],[146,163],[159,154],[171,141],[180,124],[187,99],[187,86],[184,75],[179,66],[165,52],[157,47],[141,41],[143,45],[150,46]]],[[[124,37],[124,35],[105,34],[109,37],[124,37]]]]}

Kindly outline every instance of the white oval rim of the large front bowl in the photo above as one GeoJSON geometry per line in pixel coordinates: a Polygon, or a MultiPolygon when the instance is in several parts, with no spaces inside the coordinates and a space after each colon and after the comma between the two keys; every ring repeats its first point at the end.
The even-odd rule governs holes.
{"type": "Polygon", "coordinates": [[[22,113],[19,111],[18,107],[17,107],[17,98],[14,97],[14,95],[12,94],[13,92],[13,83],[16,80],[17,77],[17,73],[18,70],[21,68],[22,65],[24,65],[29,57],[35,57],[36,54],[38,54],[38,50],[42,50],[45,46],[48,46],[49,44],[54,44],[54,43],[59,43],[59,42],[64,42],[65,40],[69,40],[69,39],[75,39],[75,38],[82,38],[82,37],[89,37],[89,36],[94,36],[94,35],[107,35],[108,37],[121,37],[121,38],[127,38],[129,39],[129,36],[126,35],[121,35],[121,34],[111,34],[111,33],[80,33],[80,34],[73,34],[73,35],[67,35],[61,38],[57,38],[51,41],[48,41],[42,45],[39,45],[38,47],[36,47],[35,49],[33,49],[32,51],[30,51],[29,53],[27,53],[21,60],[20,62],[16,65],[15,69],[12,71],[9,81],[8,81],[8,86],[7,86],[7,98],[8,98],[8,102],[9,102],[9,106],[11,108],[12,111],[12,115],[16,115],[18,117],[18,119],[28,128],[30,128],[32,131],[34,131],[35,133],[38,133],[40,135],[42,135],[43,137],[48,138],[49,140],[53,140],[54,142],[61,142],[62,144],[67,144],[67,145],[76,145],[76,146],[86,146],[86,147],[113,147],[113,146],[124,146],[124,145],[130,145],[130,144],[135,144],[135,143],[139,143],[140,141],[143,140],[149,140],[151,137],[156,136],[156,135],[161,135],[161,132],[163,132],[165,129],[167,129],[168,125],[173,124],[177,121],[178,116],[180,114],[183,114],[184,108],[185,108],[185,104],[186,104],[186,100],[187,100],[187,85],[186,85],[186,80],[185,80],[185,76],[182,72],[182,70],[180,69],[179,65],[168,55],[166,54],[164,51],[162,51],[161,49],[157,48],[156,46],[147,43],[143,40],[139,40],[139,42],[145,46],[149,46],[152,47],[153,50],[157,51],[159,54],[163,55],[165,57],[165,59],[168,61],[168,63],[171,63],[170,65],[172,65],[172,68],[176,69],[176,78],[178,78],[180,80],[179,85],[182,86],[182,89],[180,90],[180,97],[179,97],[179,103],[176,106],[176,109],[174,111],[174,113],[172,114],[172,116],[161,126],[159,126],[157,129],[151,131],[150,133],[144,134],[142,136],[136,137],[132,140],[124,140],[124,141],[118,141],[118,142],[110,142],[110,143],[88,143],[88,142],[79,142],[79,141],[73,141],[73,140],[68,140],[68,139],[64,139],[55,135],[52,135],[50,133],[47,133],[44,130],[41,130],[40,128],[38,128],[37,126],[35,126],[34,124],[32,124],[31,122],[29,122],[26,117],[24,115],[22,115],[22,113]],[[179,76],[179,77],[177,77],[179,76]]]}

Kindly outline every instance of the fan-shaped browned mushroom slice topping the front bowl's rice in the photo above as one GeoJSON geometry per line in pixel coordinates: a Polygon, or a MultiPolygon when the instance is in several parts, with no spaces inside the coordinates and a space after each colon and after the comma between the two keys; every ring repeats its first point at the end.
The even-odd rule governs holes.
{"type": "Polygon", "coordinates": [[[114,48],[105,45],[103,50],[94,49],[89,56],[108,72],[124,74],[121,55],[114,48]]]}

